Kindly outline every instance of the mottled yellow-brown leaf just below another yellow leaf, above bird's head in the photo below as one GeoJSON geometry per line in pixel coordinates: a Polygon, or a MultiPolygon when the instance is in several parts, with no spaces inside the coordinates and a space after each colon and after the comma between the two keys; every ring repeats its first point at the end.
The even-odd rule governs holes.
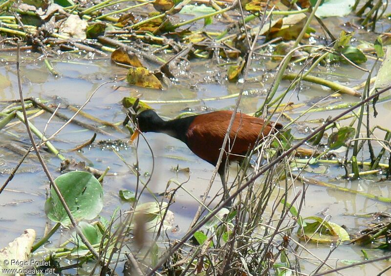
{"type": "Polygon", "coordinates": [[[153,89],[163,88],[159,79],[148,69],[142,67],[130,68],[126,79],[130,84],[140,87],[153,89]]]}

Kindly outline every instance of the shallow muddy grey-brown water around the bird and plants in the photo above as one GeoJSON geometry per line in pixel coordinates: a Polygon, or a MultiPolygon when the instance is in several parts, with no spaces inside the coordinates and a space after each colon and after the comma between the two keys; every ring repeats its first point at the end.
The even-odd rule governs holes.
{"type": "MultiPolygon", "coordinates": [[[[330,22],[329,22],[330,24],[330,22]]],[[[361,34],[364,38],[365,33],[361,34]]],[[[61,73],[60,77],[54,77],[47,72],[43,62],[36,60],[37,54],[26,53],[23,56],[22,70],[22,86],[25,97],[34,96],[43,99],[52,99],[59,96],[64,102],[62,106],[66,107],[66,102],[72,105],[81,105],[94,89],[105,81],[112,80],[114,77],[121,78],[125,76],[126,69],[121,69],[113,66],[108,59],[87,60],[66,58],[62,60],[53,59],[53,65],[61,73]]],[[[8,82],[0,86],[0,100],[9,100],[18,98],[17,78],[15,67],[15,56],[12,54],[4,54],[0,52],[0,76],[4,76],[8,82]]],[[[371,69],[373,60],[369,60],[362,65],[366,69],[371,69]]],[[[271,84],[273,80],[272,73],[264,73],[264,67],[273,67],[276,64],[262,58],[254,61],[256,70],[250,73],[250,76],[259,76],[266,74],[265,87],[271,84]]],[[[297,65],[296,69],[300,66],[297,65]]],[[[376,66],[375,71],[379,68],[376,66]]],[[[119,122],[124,119],[124,113],[121,109],[120,100],[124,96],[142,95],[142,99],[146,100],[182,100],[182,99],[203,99],[217,96],[227,96],[239,92],[240,86],[229,84],[223,80],[224,73],[216,67],[216,64],[206,61],[199,62],[198,65],[191,67],[192,77],[184,78],[177,85],[170,87],[166,91],[152,91],[142,88],[129,87],[124,81],[110,83],[103,86],[85,108],[85,111],[91,115],[95,115],[100,119],[110,122],[119,122]],[[206,73],[205,73],[206,72],[206,73]],[[220,73],[220,74],[219,74],[220,73]],[[195,81],[196,80],[196,81],[195,81]],[[218,82],[217,82],[218,80],[218,82]],[[194,87],[191,85],[196,84],[194,87]]],[[[340,82],[347,86],[357,85],[366,79],[366,74],[357,69],[352,69],[347,65],[338,67],[330,67],[327,69],[329,73],[342,74],[335,76],[329,74],[327,79],[340,82]]],[[[283,82],[280,92],[284,87],[288,86],[288,82],[283,82]]],[[[245,113],[252,113],[261,105],[264,99],[265,89],[259,83],[249,83],[246,86],[246,93],[241,102],[240,110],[245,113]]],[[[291,117],[298,116],[298,111],[304,111],[314,102],[318,101],[329,93],[328,89],[309,83],[303,83],[302,90],[299,95],[293,92],[290,96],[290,101],[295,103],[304,102],[307,105],[292,112],[287,112],[291,117]]],[[[182,111],[201,112],[204,110],[230,109],[235,104],[235,98],[225,100],[201,101],[193,103],[159,103],[151,104],[157,112],[166,117],[174,117],[182,111]]],[[[351,96],[342,96],[332,99],[334,103],[356,101],[357,98],[351,96]]],[[[371,119],[371,124],[381,125],[391,129],[390,116],[391,102],[383,102],[377,105],[379,116],[371,119]]],[[[61,112],[71,115],[67,109],[60,109],[61,112]]],[[[305,116],[305,119],[326,118],[338,114],[338,111],[311,113],[305,116]]],[[[49,114],[43,114],[40,117],[34,118],[31,121],[41,130],[43,130],[46,121],[50,117],[49,114]]],[[[85,120],[80,117],[81,120],[85,120]]],[[[282,118],[282,123],[286,123],[282,118]]],[[[348,124],[350,120],[344,121],[343,124],[348,124]]],[[[47,134],[54,133],[62,122],[53,119],[47,128],[47,134]]],[[[309,125],[314,127],[316,125],[309,125]]],[[[126,140],[129,136],[126,133],[118,133],[108,128],[112,136],[104,136],[98,134],[97,140],[115,140],[122,139],[126,145],[126,140]]],[[[303,137],[305,132],[300,132],[298,127],[294,127],[294,134],[297,137],[303,137]]],[[[91,131],[85,131],[82,128],[69,125],[61,132],[54,145],[61,150],[73,148],[77,144],[90,139],[91,131]]],[[[379,138],[383,134],[379,133],[379,138]]],[[[168,137],[163,134],[147,134],[146,138],[152,148],[154,155],[154,168],[149,188],[153,193],[158,194],[165,190],[166,184],[170,179],[178,182],[188,182],[184,185],[189,193],[200,199],[203,194],[204,187],[209,182],[213,167],[205,161],[195,157],[190,150],[180,141],[168,137]],[[190,168],[190,173],[176,172],[173,168],[190,168]]],[[[29,140],[26,136],[23,126],[20,124],[8,130],[8,132],[0,132],[0,145],[4,145],[9,141],[27,146],[29,140]]],[[[121,144],[121,143],[119,143],[121,144]]],[[[67,158],[75,158],[78,161],[86,161],[86,163],[95,168],[104,170],[110,167],[110,172],[115,172],[116,176],[108,176],[104,182],[105,190],[105,207],[102,215],[109,218],[113,209],[121,206],[126,209],[127,204],[123,204],[118,197],[120,189],[135,189],[135,177],[132,175],[127,166],[119,159],[116,150],[111,145],[95,145],[90,148],[83,149],[77,153],[64,153],[67,158]]],[[[380,147],[375,145],[375,151],[378,152],[380,147]]],[[[127,162],[132,164],[135,162],[135,150],[130,146],[122,146],[117,152],[127,162]]],[[[138,156],[140,160],[140,170],[142,180],[147,181],[152,172],[152,155],[145,141],[140,141],[138,147],[138,156]]],[[[44,154],[45,160],[48,162],[49,168],[54,176],[60,175],[60,161],[53,158],[50,154],[44,154]]],[[[0,183],[2,184],[7,178],[10,170],[16,165],[21,156],[10,152],[4,147],[0,147],[0,183]]],[[[364,158],[367,158],[365,156],[364,158]]],[[[387,161],[383,161],[387,162],[387,161]]],[[[343,187],[348,187],[354,190],[360,190],[369,194],[375,194],[383,197],[391,197],[391,183],[388,181],[378,182],[379,176],[369,176],[358,181],[346,181],[340,178],[344,174],[344,170],[336,165],[325,165],[325,171],[322,174],[309,174],[314,179],[319,179],[325,182],[338,184],[343,187]]],[[[176,187],[172,184],[171,187],[176,187]]],[[[211,195],[216,194],[220,189],[220,181],[216,180],[211,195]]],[[[301,185],[298,184],[298,189],[301,185]]],[[[26,228],[33,228],[37,231],[38,236],[42,236],[45,230],[45,224],[48,220],[44,214],[45,194],[48,189],[46,177],[38,165],[38,162],[31,155],[31,159],[22,164],[19,173],[15,176],[12,182],[7,186],[0,196],[0,248],[7,245],[16,236],[26,228]]],[[[143,202],[152,201],[152,196],[146,193],[142,198],[143,202]]],[[[171,210],[175,214],[175,225],[179,231],[171,233],[172,237],[181,237],[187,230],[189,222],[195,214],[197,203],[186,191],[180,189],[176,195],[175,203],[171,210]]],[[[349,232],[355,232],[366,226],[366,219],[357,218],[353,214],[365,214],[370,212],[386,211],[390,212],[390,205],[373,200],[366,199],[362,196],[352,195],[345,192],[336,191],[330,188],[310,185],[306,191],[305,206],[302,210],[302,215],[312,216],[326,214],[331,216],[331,221],[339,225],[345,225],[349,232]]],[[[60,233],[57,233],[52,242],[58,245],[64,241],[60,233]]],[[[316,257],[323,259],[330,247],[329,245],[314,245],[307,244],[307,248],[316,257]]],[[[363,260],[363,255],[358,246],[341,245],[332,255],[331,259],[335,260],[337,265],[341,265],[338,260],[363,260]]],[[[382,255],[382,251],[368,250],[370,257],[382,255]]],[[[313,257],[303,253],[308,257],[313,257]]],[[[311,271],[314,266],[310,262],[303,262],[302,271],[311,271]]],[[[387,267],[389,263],[378,262],[364,267],[351,269],[349,273],[360,273],[360,275],[373,275],[387,267]]]]}

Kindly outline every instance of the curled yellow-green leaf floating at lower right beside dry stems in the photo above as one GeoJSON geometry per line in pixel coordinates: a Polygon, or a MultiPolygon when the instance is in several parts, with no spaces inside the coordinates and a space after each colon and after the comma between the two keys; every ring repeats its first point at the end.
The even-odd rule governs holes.
{"type": "Polygon", "coordinates": [[[314,220],[315,222],[307,222],[305,227],[299,228],[297,234],[301,238],[317,243],[350,240],[348,232],[335,223],[325,222],[322,218],[313,216],[307,217],[305,220],[314,220]]]}

